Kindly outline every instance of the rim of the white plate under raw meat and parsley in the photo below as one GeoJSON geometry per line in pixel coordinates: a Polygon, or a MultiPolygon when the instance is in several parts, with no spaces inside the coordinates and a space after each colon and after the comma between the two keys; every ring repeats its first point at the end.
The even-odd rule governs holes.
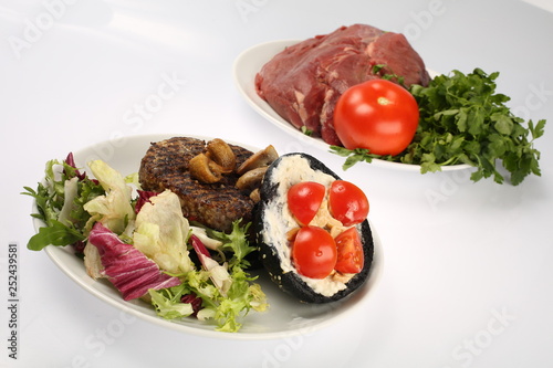
{"type": "MultiPolygon", "coordinates": [[[[284,120],[282,117],[278,115],[274,109],[261,97],[257,96],[257,94],[252,97],[250,93],[248,93],[252,86],[253,86],[253,78],[255,74],[259,72],[261,66],[267,63],[269,60],[271,60],[275,54],[269,54],[265,55],[265,57],[258,59],[257,60],[257,66],[258,69],[253,73],[253,78],[252,77],[247,77],[244,70],[248,70],[243,67],[243,65],[247,62],[251,62],[251,54],[259,52],[260,50],[263,49],[276,49],[280,48],[283,50],[286,46],[293,45],[298,42],[301,42],[303,40],[298,40],[298,39],[282,39],[282,40],[273,40],[273,41],[267,41],[267,42],[261,42],[258,44],[254,44],[246,50],[243,50],[236,59],[232,64],[232,77],[234,81],[234,85],[238,88],[240,95],[242,96],[243,99],[252,107],[258,114],[260,114],[262,117],[264,117],[267,120],[272,123],[274,126],[280,128],[281,130],[288,133],[289,135],[293,136],[294,138],[301,139],[302,143],[306,143],[311,146],[315,146],[320,149],[330,151],[330,145],[323,141],[320,137],[310,137],[301,133],[299,129],[293,127],[290,123],[284,120]],[[246,76],[246,78],[244,78],[246,76]],[[244,81],[246,80],[246,81],[244,81]],[[250,83],[251,82],[251,83],[250,83]],[[248,86],[247,83],[250,85],[248,86]]],[[[428,70],[430,73],[436,73],[430,70],[428,70]]],[[[401,164],[401,162],[395,162],[395,161],[387,161],[383,160],[379,158],[373,158],[371,164],[375,164],[376,166],[379,167],[385,167],[385,168],[390,168],[390,169],[398,169],[398,170],[404,170],[404,171],[420,171],[420,165],[415,165],[415,164],[401,164]]],[[[470,169],[472,166],[468,164],[458,164],[458,165],[446,165],[441,166],[441,171],[456,171],[456,170],[466,170],[470,169]]]]}

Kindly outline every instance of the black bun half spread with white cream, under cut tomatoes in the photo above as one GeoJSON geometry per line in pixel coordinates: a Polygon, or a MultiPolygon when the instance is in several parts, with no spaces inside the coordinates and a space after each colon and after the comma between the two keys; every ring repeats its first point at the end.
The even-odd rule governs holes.
{"type": "Polygon", "coordinates": [[[368,278],[373,263],[374,242],[368,221],[357,224],[363,251],[364,267],[341,286],[321,283],[300,275],[292,264],[286,232],[291,222],[286,203],[288,189],[299,181],[317,181],[328,186],[340,177],[316,158],[301,153],[279,157],[267,170],[260,188],[261,200],[253,215],[254,242],[260,260],[270,278],[285,293],[304,303],[330,303],[343,299],[358,290],[368,278]],[[320,181],[321,180],[321,181],[320,181]],[[324,291],[330,285],[337,290],[324,291]]]}

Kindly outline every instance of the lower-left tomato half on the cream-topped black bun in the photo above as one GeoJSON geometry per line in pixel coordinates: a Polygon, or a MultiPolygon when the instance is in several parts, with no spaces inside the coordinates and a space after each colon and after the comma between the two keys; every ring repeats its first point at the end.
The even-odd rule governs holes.
{"type": "Polygon", "coordinates": [[[292,245],[292,261],[299,274],[324,278],[334,270],[336,259],[336,243],[326,230],[304,227],[298,231],[292,245]]]}

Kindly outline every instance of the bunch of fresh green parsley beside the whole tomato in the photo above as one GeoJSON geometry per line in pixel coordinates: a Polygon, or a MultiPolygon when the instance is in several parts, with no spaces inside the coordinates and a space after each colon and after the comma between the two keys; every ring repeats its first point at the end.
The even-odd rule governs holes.
{"type": "Polygon", "coordinates": [[[468,164],[477,168],[473,181],[493,177],[502,183],[497,166],[501,161],[513,186],[530,174],[541,176],[540,151],[533,143],[543,135],[545,120],[525,123],[514,116],[505,105],[510,98],[495,93],[498,76],[498,72],[488,75],[480,69],[469,74],[452,71],[451,75],[436,76],[427,87],[413,85],[419,126],[413,143],[397,156],[337,146],[331,150],[347,157],[344,170],[373,158],[420,165],[422,174],[439,171],[445,165],[468,164]]]}

